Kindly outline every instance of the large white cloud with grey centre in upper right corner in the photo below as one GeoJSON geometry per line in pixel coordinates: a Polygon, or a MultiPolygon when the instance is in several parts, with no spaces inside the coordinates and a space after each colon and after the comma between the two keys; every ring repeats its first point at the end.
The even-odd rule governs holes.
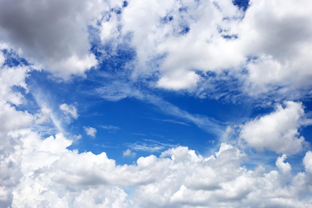
{"type": "MultiPolygon", "coordinates": [[[[248,63],[252,93],[268,92],[278,86],[311,86],[312,9],[308,0],[251,0],[239,25],[240,42],[247,54],[258,56],[248,63]]],[[[247,88],[248,90],[248,88],[247,88]]]]}

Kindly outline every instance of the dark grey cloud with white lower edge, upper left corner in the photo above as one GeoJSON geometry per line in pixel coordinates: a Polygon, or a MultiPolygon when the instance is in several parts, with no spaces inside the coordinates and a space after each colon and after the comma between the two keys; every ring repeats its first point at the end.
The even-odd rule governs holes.
{"type": "Polygon", "coordinates": [[[90,53],[88,22],[104,4],[98,0],[1,0],[0,37],[37,67],[68,79],[97,64],[90,53]]]}

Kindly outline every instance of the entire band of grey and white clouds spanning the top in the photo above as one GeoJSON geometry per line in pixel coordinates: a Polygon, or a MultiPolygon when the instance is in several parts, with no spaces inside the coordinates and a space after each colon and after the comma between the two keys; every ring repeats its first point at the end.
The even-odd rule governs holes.
{"type": "Polygon", "coordinates": [[[205,97],[229,76],[252,96],[310,93],[309,0],[250,0],[246,11],[232,0],[0,2],[1,39],[35,68],[64,79],[105,59],[92,44],[106,57],[127,45],[136,53],[131,78],[156,77],[152,87],[205,97]],[[220,75],[216,83],[208,72],[220,75]]]}

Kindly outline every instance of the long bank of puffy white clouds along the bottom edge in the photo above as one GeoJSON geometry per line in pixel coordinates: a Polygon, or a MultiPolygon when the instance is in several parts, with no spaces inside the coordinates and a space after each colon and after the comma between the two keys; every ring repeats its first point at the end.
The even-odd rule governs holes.
{"type": "Polygon", "coordinates": [[[292,175],[286,155],[274,170],[250,170],[246,155],[225,143],[210,157],[176,147],[116,165],[105,153],[66,149],[72,141],[63,134],[42,139],[24,129],[7,139],[15,145],[1,159],[1,207],[311,207],[311,152],[306,172],[292,175]]]}

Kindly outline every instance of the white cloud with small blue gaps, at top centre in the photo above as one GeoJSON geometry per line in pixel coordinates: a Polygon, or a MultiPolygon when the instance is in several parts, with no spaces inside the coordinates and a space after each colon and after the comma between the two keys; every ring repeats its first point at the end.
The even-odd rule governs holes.
{"type": "Polygon", "coordinates": [[[123,31],[133,32],[131,43],[138,55],[135,73],[157,71],[152,65],[156,60],[160,64],[159,87],[194,88],[199,77],[193,69],[218,71],[244,61],[235,42],[222,38],[218,30],[228,27],[225,17],[243,15],[231,0],[129,1],[122,14],[123,31]]]}

